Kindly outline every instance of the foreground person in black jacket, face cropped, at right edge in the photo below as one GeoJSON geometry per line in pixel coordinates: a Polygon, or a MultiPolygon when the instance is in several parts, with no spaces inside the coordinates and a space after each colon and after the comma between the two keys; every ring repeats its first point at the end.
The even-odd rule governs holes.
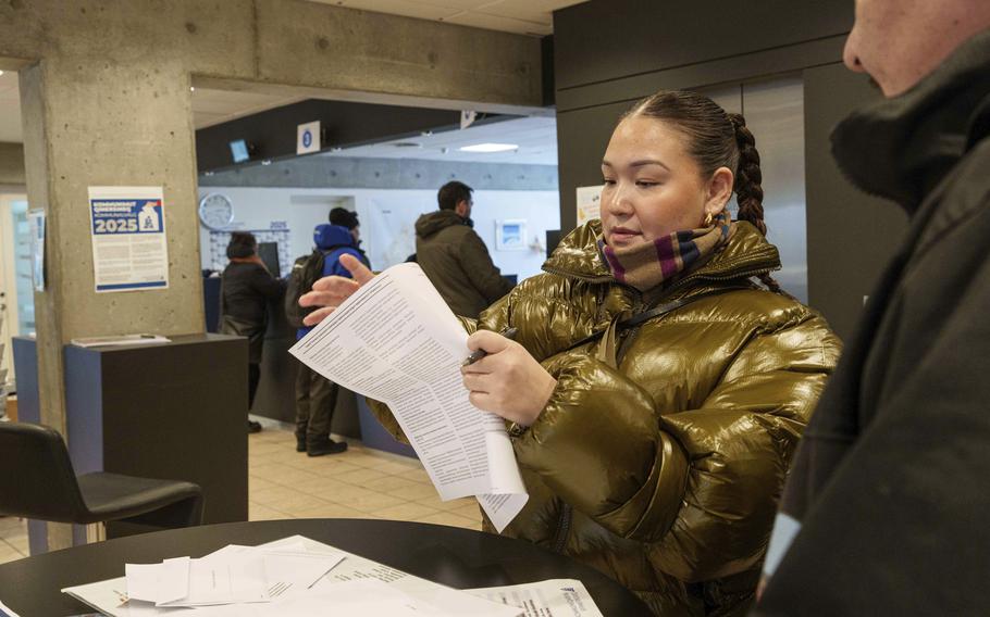
{"type": "Polygon", "coordinates": [[[845,63],[888,99],[833,154],[909,228],[805,431],[756,613],[986,615],[990,2],[861,0],[845,63]]]}

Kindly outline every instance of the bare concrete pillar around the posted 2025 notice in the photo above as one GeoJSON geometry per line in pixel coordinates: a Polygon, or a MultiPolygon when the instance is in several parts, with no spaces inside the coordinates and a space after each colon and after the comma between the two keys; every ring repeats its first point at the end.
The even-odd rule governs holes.
{"type": "MultiPolygon", "coordinates": [[[[64,433],[62,349],[73,338],[205,331],[189,77],[181,66],[53,58],[21,72],[27,197],[47,214],[35,293],[41,420],[64,433]],[[94,290],[89,186],[164,188],[169,288],[94,290]]],[[[51,549],[71,536],[49,532],[51,549]]]]}

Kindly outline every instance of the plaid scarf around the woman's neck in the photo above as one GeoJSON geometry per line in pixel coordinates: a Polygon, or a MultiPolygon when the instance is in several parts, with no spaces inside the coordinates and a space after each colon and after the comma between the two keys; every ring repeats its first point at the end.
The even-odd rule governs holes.
{"type": "Polygon", "coordinates": [[[599,235],[598,253],[616,280],[649,291],[706,262],[729,241],[734,230],[732,216],[723,210],[711,227],[675,231],[628,249],[612,249],[605,243],[605,236],[599,235]]]}

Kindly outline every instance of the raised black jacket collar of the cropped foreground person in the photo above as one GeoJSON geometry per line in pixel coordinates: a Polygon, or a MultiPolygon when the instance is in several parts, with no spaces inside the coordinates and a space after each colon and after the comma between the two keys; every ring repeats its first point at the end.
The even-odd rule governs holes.
{"type": "Polygon", "coordinates": [[[914,88],[854,112],[832,154],[854,185],[914,212],[990,134],[990,30],[973,37],[914,88]]]}

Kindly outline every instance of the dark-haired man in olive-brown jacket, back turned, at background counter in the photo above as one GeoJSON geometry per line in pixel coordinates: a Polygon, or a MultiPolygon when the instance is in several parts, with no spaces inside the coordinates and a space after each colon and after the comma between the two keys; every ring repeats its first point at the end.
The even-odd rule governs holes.
{"type": "Polygon", "coordinates": [[[416,222],[416,260],[455,315],[478,317],[512,289],[471,225],[468,185],[450,181],[436,194],[440,210],[416,222]]]}

